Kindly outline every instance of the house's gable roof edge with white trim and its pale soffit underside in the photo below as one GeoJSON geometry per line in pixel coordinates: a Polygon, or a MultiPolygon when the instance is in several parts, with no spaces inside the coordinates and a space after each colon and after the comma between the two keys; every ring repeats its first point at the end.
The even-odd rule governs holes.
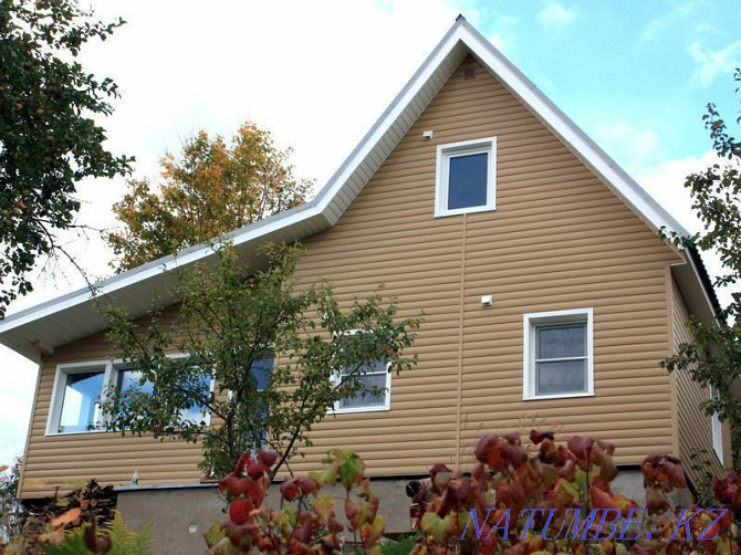
{"type": "MultiPolygon", "coordinates": [[[[258,262],[255,247],[261,243],[300,240],[333,227],[469,54],[493,73],[648,226],[654,230],[666,228],[687,234],[677,220],[459,15],[312,201],[229,233],[240,255],[254,264],[258,262]]],[[[168,293],[175,282],[170,270],[187,270],[194,263],[208,263],[213,258],[210,247],[196,245],[104,280],[95,284],[94,291],[127,306],[133,315],[144,314],[153,302],[166,306],[175,301],[168,293]]],[[[709,299],[713,296],[709,295],[709,299]]],[[[105,322],[93,300],[93,289],[84,287],[12,314],[0,321],[0,343],[35,359],[40,353],[100,332],[105,328],[105,322]]]]}

